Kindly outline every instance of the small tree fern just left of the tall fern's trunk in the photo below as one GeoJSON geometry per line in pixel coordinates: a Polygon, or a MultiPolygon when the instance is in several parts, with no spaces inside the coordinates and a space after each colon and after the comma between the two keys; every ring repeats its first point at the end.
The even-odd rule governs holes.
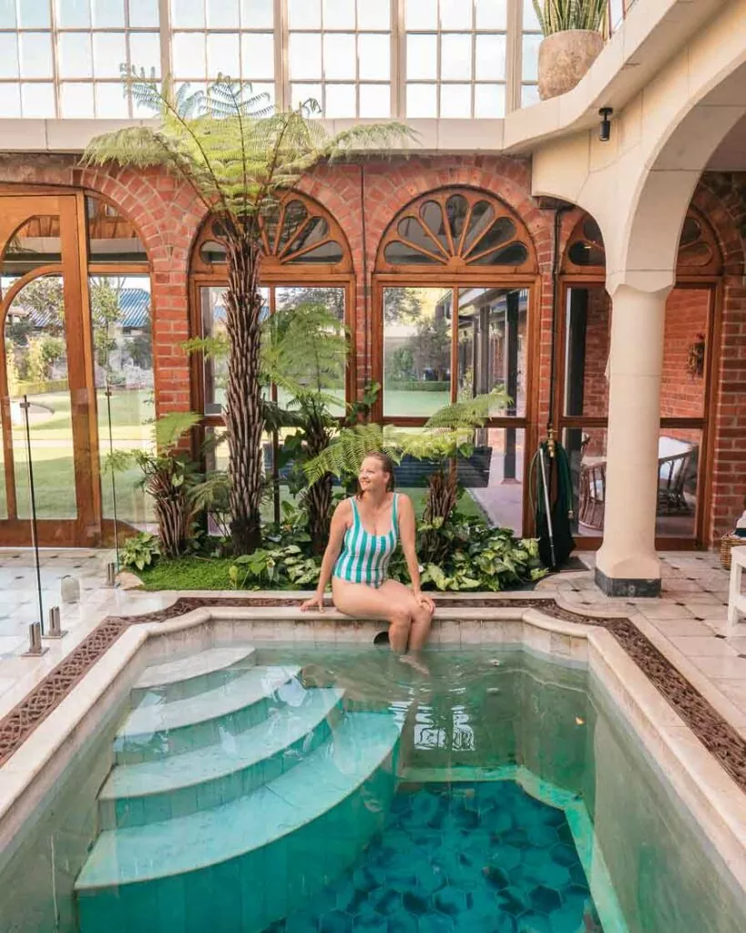
{"type": "Polygon", "coordinates": [[[198,424],[193,411],[174,411],[154,425],[154,450],[115,451],[109,454],[104,469],[122,471],[139,466],[142,485],[153,497],[159,525],[160,550],[165,557],[175,557],[186,550],[196,514],[191,488],[198,471],[186,453],[177,449],[179,441],[198,424]]]}

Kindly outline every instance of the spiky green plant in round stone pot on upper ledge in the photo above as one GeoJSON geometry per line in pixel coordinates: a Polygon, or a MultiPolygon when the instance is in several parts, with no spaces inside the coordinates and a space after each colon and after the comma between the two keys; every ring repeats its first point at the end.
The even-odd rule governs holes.
{"type": "Polygon", "coordinates": [[[603,49],[606,0],[533,0],[544,33],[539,46],[539,97],[572,91],[603,49]]]}

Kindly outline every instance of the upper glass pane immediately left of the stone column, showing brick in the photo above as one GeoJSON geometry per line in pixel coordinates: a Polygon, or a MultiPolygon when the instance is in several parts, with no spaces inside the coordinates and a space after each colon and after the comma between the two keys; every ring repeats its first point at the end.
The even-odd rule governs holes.
{"type": "Polygon", "coordinates": [[[604,418],[609,403],[611,302],[601,285],[568,288],[565,300],[564,411],[575,417],[604,418]]]}

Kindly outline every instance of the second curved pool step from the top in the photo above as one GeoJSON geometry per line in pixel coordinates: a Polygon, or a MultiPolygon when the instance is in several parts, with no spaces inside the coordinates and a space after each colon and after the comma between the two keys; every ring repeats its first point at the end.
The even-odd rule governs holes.
{"type": "Polygon", "coordinates": [[[165,758],[213,745],[226,734],[250,729],[272,706],[292,703],[303,688],[298,667],[251,667],[228,684],[184,700],[141,703],[117,732],[117,764],[165,758]]]}

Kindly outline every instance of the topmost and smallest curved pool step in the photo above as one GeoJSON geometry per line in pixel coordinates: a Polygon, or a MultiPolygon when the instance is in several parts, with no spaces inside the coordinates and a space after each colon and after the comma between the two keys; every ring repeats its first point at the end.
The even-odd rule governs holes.
{"type": "Polygon", "coordinates": [[[146,667],[132,688],[137,702],[156,692],[167,702],[184,700],[203,690],[220,687],[254,663],[256,648],[206,648],[176,661],[146,667]]]}

